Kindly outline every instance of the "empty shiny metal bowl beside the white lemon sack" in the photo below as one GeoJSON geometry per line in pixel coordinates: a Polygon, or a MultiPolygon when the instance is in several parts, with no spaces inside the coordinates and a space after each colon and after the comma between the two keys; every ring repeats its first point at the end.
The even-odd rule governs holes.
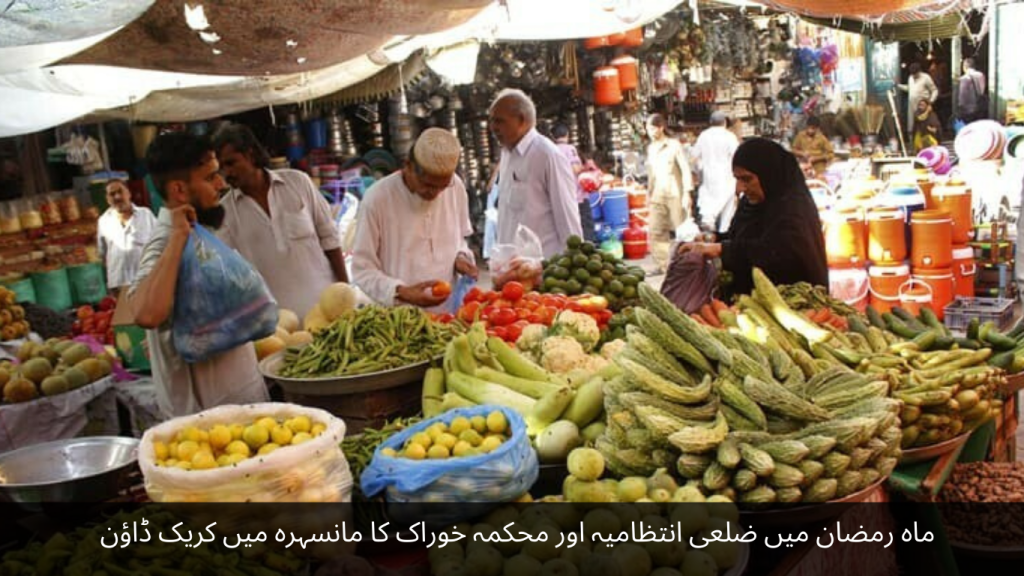
{"type": "Polygon", "coordinates": [[[102,502],[135,465],[138,440],[58,440],[0,454],[0,501],[102,502]]]}

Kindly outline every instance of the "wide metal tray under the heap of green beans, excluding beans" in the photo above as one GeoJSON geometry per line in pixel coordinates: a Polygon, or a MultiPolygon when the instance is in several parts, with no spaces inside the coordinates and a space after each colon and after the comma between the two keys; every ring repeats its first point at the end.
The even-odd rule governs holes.
{"type": "Polygon", "coordinates": [[[433,361],[427,360],[382,370],[369,374],[358,374],[355,376],[328,376],[325,378],[288,378],[279,376],[278,371],[285,363],[285,352],[279,352],[264,358],[259,363],[260,374],[264,378],[272,380],[282,389],[292,394],[305,396],[344,396],[351,394],[364,394],[387,388],[394,388],[423,380],[423,376],[430,368],[431,362],[436,362],[442,357],[437,357],[433,361]]]}

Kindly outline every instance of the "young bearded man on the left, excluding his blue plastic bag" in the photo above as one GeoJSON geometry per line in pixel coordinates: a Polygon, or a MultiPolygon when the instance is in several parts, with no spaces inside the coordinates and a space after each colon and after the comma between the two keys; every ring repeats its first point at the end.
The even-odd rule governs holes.
{"type": "Polygon", "coordinates": [[[173,132],[158,136],[145,156],[165,206],[142,250],[128,305],[135,323],[148,329],[157,403],[167,416],[184,416],[224,404],[265,402],[266,384],[251,344],[188,364],[172,338],[178,269],[188,236],[196,224],[216,230],[224,220],[220,194],[226,187],[213,149],[198,136],[173,132]]]}

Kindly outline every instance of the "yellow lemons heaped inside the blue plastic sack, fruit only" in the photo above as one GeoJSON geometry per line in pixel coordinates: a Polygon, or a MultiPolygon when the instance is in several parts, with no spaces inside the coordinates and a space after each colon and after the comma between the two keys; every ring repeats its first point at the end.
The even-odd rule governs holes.
{"type": "Polygon", "coordinates": [[[406,441],[400,451],[384,448],[381,454],[411,460],[443,460],[494,452],[508,441],[505,414],[494,411],[484,416],[457,416],[451,422],[435,422],[406,441]]]}

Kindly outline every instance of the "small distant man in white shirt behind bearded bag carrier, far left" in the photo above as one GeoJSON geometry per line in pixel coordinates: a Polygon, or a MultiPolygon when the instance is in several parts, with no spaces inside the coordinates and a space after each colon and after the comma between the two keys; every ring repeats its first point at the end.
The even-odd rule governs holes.
{"type": "Polygon", "coordinates": [[[106,270],[106,289],[117,296],[135,281],[157,217],[148,208],[132,204],[131,193],[120,179],[106,183],[106,203],[111,207],[99,216],[96,244],[106,270]]]}

